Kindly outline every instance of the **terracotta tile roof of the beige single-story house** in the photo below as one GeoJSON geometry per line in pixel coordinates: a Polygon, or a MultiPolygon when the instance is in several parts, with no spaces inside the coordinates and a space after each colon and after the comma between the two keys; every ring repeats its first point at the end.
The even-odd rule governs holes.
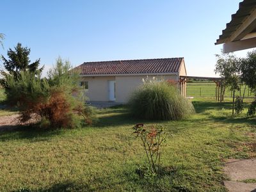
{"type": "Polygon", "coordinates": [[[179,72],[182,60],[184,58],[99,61],[86,62],[76,68],[81,70],[81,75],[168,73],[179,72]]]}

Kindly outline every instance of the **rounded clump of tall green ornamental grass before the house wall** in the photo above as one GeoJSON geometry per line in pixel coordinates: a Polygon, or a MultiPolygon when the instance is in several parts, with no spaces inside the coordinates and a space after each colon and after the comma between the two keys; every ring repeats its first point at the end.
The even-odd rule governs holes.
{"type": "Polygon", "coordinates": [[[146,79],[129,100],[131,114],[149,120],[179,120],[195,113],[193,104],[180,95],[176,86],[146,79]]]}

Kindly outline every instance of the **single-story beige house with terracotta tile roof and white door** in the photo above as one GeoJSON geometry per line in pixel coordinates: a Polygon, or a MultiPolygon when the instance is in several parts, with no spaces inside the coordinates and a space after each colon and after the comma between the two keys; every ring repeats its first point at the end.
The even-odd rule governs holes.
{"type": "Polygon", "coordinates": [[[127,102],[147,76],[177,82],[186,96],[186,82],[180,81],[187,75],[184,58],[86,62],[76,68],[90,101],[127,102]]]}

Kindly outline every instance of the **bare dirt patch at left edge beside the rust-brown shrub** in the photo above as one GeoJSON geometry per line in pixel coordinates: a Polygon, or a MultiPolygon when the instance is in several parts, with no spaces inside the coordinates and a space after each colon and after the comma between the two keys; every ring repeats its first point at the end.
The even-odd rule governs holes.
{"type": "Polygon", "coordinates": [[[40,120],[38,115],[32,115],[32,118],[26,122],[20,122],[20,115],[8,115],[0,117],[0,131],[9,131],[17,129],[20,125],[35,124],[40,120]]]}

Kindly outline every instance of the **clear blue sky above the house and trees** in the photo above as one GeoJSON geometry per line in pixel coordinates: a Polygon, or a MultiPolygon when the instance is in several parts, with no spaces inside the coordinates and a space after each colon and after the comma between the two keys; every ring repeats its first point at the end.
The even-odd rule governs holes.
{"type": "MultiPolygon", "coordinates": [[[[216,38],[242,0],[2,0],[4,50],[17,42],[41,58],[84,61],[184,57],[189,76],[215,76],[216,38]]],[[[243,56],[246,51],[237,52],[243,56]]]]}

